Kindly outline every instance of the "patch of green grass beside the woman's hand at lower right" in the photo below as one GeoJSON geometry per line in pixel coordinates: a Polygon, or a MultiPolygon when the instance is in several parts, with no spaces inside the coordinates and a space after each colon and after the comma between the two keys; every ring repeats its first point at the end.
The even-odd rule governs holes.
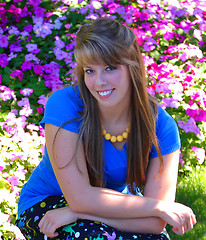
{"type": "Polygon", "coordinates": [[[197,218],[194,229],[184,235],[176,235],[171,227],[167,230],[171,240],[206,240],[206,167],[179,176],[176,201],[192,208],[197,218]]]}

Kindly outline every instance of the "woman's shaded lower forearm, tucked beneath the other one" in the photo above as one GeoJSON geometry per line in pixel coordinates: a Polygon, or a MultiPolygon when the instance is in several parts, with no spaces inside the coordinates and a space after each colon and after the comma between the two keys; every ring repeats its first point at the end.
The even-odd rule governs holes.
{"type": "Polygon", "coordinates": [[[78,218],[102,222],[118,230],[134,233],[160,234],[166,226],[166,223],[157,217],[137,219],[109,219],[87,214],[78,214],[78,218]]]}

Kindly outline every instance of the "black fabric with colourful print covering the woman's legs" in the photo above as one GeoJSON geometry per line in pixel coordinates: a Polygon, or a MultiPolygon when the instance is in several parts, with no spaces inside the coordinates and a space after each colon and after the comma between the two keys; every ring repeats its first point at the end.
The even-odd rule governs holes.
{"type": "Polygon", "coordinates": [[[104,223],[94,222],[90,220],[79,219],[76,222],[57,229],[59,235],[55,238],[49,238],[44,235],[38,227],[38,224],[44,214],[52,209],[65,207],[67,202],[63,196],[50,196],[43,201],[35,204],[33,207],[24,211],[16,220],[16,226],[19,227],[26,239],[32,240],[169,240],[167,232],[162,234],[140,234],[123,232],[114,229],[104,223]]]}

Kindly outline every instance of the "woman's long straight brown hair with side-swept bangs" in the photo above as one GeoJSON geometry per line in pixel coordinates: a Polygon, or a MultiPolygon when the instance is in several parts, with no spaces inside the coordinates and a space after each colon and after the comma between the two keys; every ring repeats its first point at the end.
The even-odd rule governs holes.
{"type": "Polygon", "coordinates": [[[145,66],[136,37],[131,29],[115,20],[97,19],[83,25],[78,31],[74,55],[77,61],[75,74],[84,104],[80,138],[84,141],[90,183],[93,186],[104,186],[103,137],[97,101],[85,85],[83,66],[101,62],[109,66],[128,66],[132,93],[126,182],[135,193],[135,186],[142,187],[145,183],[152,143],[160,158],[160,172],[163,167],[155,133],[157,104],[147,92],[145,66]]]}

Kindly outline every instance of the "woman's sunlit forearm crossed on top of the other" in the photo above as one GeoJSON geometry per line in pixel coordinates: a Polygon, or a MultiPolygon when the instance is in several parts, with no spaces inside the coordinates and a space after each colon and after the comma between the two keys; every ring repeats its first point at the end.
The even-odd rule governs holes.
{"type": "Polygon", "coordinates": [[[77,213],[113,219],[137,219],[144,217],[158,217],[157,199],[122,194],[104,188],[92,188],[89,193],[82,193],[75,205],[69,203],[71,209],[77,213]],[[94,200],[95,199],[95,200],[94,200]]]}

